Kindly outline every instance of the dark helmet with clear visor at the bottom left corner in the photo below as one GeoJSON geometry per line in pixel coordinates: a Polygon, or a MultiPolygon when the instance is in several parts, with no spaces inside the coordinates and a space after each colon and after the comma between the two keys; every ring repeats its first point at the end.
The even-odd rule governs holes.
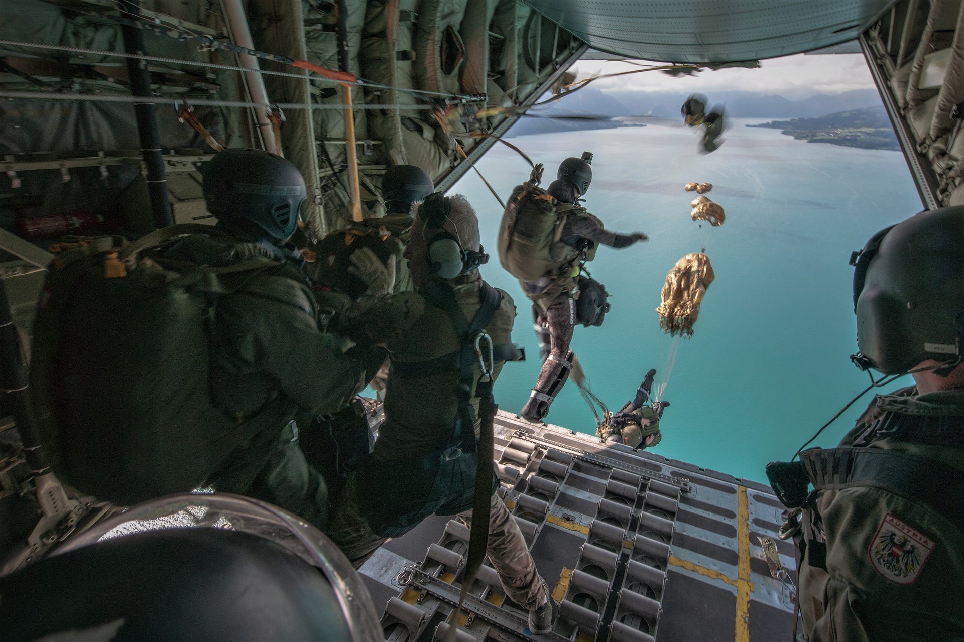
{"type": "Polygon", "coordinates": [[[382,632],[362,578],[331,540],[238,495],[135,506],[0,577],[0,592],[11,640],[320,642],[382,632]]]}

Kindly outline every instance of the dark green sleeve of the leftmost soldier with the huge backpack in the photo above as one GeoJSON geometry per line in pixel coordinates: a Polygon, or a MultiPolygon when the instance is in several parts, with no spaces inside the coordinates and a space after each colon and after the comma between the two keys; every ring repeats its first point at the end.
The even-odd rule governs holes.
{"type": "Polygon", "coordinates": [[[305,285],[262,276],[218,302],[218,334],[232,370],[266,376],[298,405],[328,414],[363,387],[364,359],[342,335],[321,332],[316,312],[305,285]]]}

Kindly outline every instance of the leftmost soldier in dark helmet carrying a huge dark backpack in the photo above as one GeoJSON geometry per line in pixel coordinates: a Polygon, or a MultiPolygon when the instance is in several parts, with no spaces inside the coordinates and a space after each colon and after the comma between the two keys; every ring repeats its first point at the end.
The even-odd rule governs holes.
{"type": "Polygon", "coordinates": [[[38,415],[89,495],[126,505],[205,485],[324,527],[328,493],[293,419],[343,408],[381,339],[325,331],[288,243],[307,197],[294,165],[226,149],[203,192],[215,227],[59,257],[35,328],[38,415]]]}

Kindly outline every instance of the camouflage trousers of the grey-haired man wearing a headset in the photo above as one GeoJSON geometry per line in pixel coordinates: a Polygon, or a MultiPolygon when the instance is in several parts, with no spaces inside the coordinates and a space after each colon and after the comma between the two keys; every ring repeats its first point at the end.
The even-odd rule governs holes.
{"type": "MultiPolygon", "coordinates": [[[[326,533],[356,569],[362,568],[388,538],[376,535],[368,527],[359,512],[356,499],[356,476],[348,477],[348,483],[333,507],[329,529],[326,533]]],[[[459,513],[458,518],[470,526],[472,512],[459,513]]],[[[515,518],[498,495],[492,495],[489,514],[489,561],[498,573],[505,595],[522,608],[532,610],[549,599],[542,575],[536,570],[525,539],[515,518]]]]}

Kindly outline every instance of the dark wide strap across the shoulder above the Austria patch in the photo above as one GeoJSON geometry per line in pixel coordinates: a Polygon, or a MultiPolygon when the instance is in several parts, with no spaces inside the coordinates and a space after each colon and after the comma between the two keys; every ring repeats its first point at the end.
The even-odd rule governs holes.
{"type": "Polygon", "coordinates": [[[800,463],[817,491],[877,488],[930,506],[964,532],[960,468],[883,448],[811,448],[800,463]]]}

